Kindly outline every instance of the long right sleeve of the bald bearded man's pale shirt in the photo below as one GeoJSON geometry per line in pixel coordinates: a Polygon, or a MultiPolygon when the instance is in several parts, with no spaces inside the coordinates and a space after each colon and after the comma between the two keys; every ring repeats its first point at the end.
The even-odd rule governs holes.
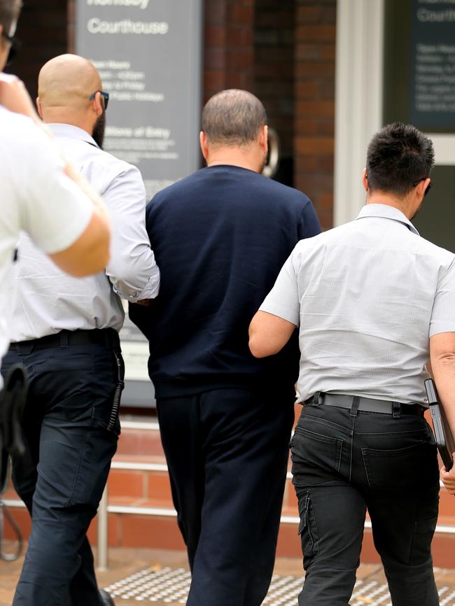
{"type": "Polygon", "coordinates": [[[113,178],[103,197],[112,220],[106,274],[114,290],[132,302],[156,297],[160,270],[146,232],[146,190],[139,170],[129,165],[113,178]]]}

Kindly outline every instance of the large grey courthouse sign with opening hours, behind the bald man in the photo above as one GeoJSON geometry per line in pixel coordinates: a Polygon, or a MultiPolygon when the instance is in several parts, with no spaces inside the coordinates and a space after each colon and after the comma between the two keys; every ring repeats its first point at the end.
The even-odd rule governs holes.
{"type": "MultiPolygon", "coordinates": [[[[200,167],[202,0],[76,0],[76,52],[110,94],[104,149],[139,168],[148,199],[200,167]]],[[[123,401],[147,404],[148,344],[128,318],[120,337],[123,401]]]]}

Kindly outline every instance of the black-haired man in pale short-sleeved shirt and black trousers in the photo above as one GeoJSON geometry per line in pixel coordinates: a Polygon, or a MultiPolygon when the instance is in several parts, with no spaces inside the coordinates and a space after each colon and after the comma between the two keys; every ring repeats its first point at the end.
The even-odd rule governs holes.
{"type": "Polygon", "coordinates": [[[439,473],[423,381],[430,360],[455,430],[455,255],[411,223],[433,164],[433,144],[416,128],[377,133],[366,206],[297,244],[251,322],[258,358],[276,355],[299,327],[303,409],[291,453],[300,606],[348,605],[367,509],[393,605],[439,603],[430,552],[439,473]]]}

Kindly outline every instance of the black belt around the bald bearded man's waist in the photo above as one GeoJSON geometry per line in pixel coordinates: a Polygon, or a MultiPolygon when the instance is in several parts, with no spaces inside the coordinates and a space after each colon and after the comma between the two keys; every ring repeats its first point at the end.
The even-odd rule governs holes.
{"type": "Polygon", "coordinates": [[[10,344],[10,351],[33,351],[50,347],[67,347],[69,345],[100,344],[108,347],[119,347],[118,332],[113,328],[93,328],[92,330],[60,330],[47,334],[40,339],[18,341],[10,344]]]}

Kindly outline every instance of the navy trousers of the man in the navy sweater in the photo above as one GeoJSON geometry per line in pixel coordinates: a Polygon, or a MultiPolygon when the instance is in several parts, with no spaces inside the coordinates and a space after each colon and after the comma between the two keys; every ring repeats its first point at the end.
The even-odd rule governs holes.
{"type": "Polygon", "coordinates": [[[158,400],[192,571],[187,606],[259,606],[276,549],[293,393],[218,389],[158,400]]]}

